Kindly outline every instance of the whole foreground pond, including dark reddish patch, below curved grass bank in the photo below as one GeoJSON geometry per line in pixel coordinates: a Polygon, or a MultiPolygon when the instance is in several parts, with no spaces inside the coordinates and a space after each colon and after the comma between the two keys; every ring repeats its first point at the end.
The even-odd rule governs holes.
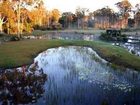
{"type": "Polygon", "coordinates": [[[28,72],[17,69],[22,70],[21,77],[24,74],[26,82],[10,81],[4,75],[4,81],[14,84],[0,86],[0,104],[140,105],[140,73],[113,69],[91,48],[51,48],[40,53],[34,62],[28,72]],[[22,99],[15,99],[14,90],[22,99]]]}

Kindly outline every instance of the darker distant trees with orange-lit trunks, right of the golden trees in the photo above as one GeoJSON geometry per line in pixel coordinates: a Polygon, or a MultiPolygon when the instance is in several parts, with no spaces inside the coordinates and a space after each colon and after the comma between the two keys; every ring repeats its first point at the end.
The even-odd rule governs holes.
{"type": "Polygon", "coordinates": [[[128,28],[140,27],[140,4],[135,7],[129,0],[123,0],[114,4],[119,10],[115,12],[109,7],[104,7],[90,12],[87,8],[77,8],[75,13],[64,12],[60,23],[64,28],[128,28]]]}

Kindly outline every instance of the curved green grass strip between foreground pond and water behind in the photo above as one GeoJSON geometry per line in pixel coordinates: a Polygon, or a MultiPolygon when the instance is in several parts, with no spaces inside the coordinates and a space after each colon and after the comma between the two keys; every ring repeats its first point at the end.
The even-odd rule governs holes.
{"type": "Polygon", "coordinates": [[[123,48],[99,41],[23,40],[0,45],[0,68],[12,68],[33,62],[38,53],[59,46],[88,46],[109,62],[140,70],[140,57],[123,48]]]}

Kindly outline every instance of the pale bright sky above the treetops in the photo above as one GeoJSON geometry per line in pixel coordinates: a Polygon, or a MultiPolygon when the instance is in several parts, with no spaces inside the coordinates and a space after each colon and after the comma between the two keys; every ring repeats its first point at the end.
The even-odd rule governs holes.
{"type": "MultiPolygon", "coordinates": [[[[95,11],[105,6],[118,9],[114,5],[122,0],[45,0],[45,6],[48,10],[59,9],[60,12],[75,12],[77,7],[88,8],[90,11],[95,11]]],[[[129,0],[132,6],[140,3],[140,0],[129,0]]]]}

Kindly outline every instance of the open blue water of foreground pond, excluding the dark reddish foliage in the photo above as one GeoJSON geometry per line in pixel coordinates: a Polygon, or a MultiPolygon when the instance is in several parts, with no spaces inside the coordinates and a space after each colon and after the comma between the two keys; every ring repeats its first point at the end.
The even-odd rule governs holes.
{"type": "Polygon", "coordinates": [[[38,105],[140,104],[140,73],[113,70],[91,48],[53,48],[35,62],[48,75],[38,105]]]}

